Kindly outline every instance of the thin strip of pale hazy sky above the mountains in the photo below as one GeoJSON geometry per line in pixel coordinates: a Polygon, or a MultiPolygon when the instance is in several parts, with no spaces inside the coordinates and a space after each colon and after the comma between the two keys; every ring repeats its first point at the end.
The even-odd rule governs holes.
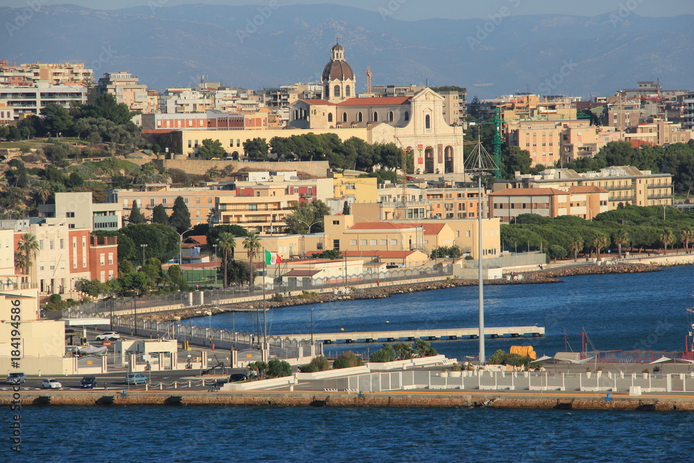
{"type": "MultiPolygon", "coordinates": [[[[394,19],[413,20],[431,17],[464,19],[486,17],[506,6],[513,15],[534,15],[539,13],[568,14],[579,16],[600,15],[619,10],[620,6],[634,10],[636,14],[647,17],[676,16],[683,13],[694,14],[692,0],[40,0],[42,3],[71,3],[100,10],[112,10],[129,6],[148,6],[156,2],[162,6],[180,5],[183,3],[207,3],[223,5],[268,5],[277,1],[281,5],[296,3],[334,3],[355,6],[366,10],[391,8],[394,19]],[[397,6],[397,8],[393,8],[397,6]]],[[[28,0],[0,0],[0,6],[26,7],[28,0]]]]}

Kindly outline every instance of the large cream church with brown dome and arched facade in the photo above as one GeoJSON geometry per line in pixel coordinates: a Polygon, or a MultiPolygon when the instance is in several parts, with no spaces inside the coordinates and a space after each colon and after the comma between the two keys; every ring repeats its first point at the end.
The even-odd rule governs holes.
{"type": "Polygon", "coordinates": [[[425,88],[412,96],[359,97],[357,79],[339,43],[331,49],[321,83],[321,99],[291,106],[291,127],[337,135],[362,129],[367,142],[393,142],[413,153],[415,174],[463,172],[463,128],[446,123],[443,96],[425,88]]]}

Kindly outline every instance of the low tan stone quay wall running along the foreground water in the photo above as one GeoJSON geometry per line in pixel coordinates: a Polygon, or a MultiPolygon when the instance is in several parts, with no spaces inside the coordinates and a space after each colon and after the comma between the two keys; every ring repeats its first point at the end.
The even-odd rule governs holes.
{"type": "MultiPolygon", "coordinates": [[[[41,392],[22,406],[255,405],[278,407],[493,407],[505,409],[694,411],[692,395],[532,394],[528,392],[41,392]]],[[[11,393],[0,392],[0,405],[11,393]]]]}

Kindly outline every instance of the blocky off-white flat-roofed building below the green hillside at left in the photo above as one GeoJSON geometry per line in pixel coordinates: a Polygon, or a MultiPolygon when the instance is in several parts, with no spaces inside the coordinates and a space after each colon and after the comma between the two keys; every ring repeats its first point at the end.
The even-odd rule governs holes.
{"type": "Polygon", "coordinates": [[[92,192],[56,193],[54,204],[40,204],[39,217],[60,219],[68,228],[91,231],[119,230],[123,226],[123,208],[118,203],[94,203],[92,192]]]}

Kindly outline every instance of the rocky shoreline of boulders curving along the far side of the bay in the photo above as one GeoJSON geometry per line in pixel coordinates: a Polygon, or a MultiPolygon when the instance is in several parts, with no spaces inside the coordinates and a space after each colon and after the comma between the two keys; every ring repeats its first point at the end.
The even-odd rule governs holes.
{"type": "MultiPolygon", "coordinates": [[[[660,267],[650,264],[619,264],[619,265],[577,265],[563,269],[545,269],[523,273],[523,279],[518,280],[484,280],[484,285],[538,285],[542,283],[561,283],[562,277],[579,275],[602,275],[611,273],[643,273],[660,271],[660,267]]],[[[295,305],[322,304],[337,301],[353,301],[357,299],[380,299],[392,296],[393,294],[406,294],[412,292],[431,291],[433,289],[446,289],[461,286],[477,286],[477,280],[460,280],[451,278],[442,281],[432,281],[426,283],[414,283],[408,285],[387,285],[380,287],[360,288],[350,294],[332,293],[312,293],[312,292],[290,292],[291,297],[284,298],[283,301],[271,301],[272,294],[268,295],[266,308],[285,308],[295,305]]],[[[255,310],[262,306],[262,302],[253,301],[246,303],[234,303],[222,308],[211,308],[207,310],[178,310],[167,312],[166,314],[152,314],[151,318],[160,320],[170,320],[172,317],[180,319],[191,319],[212,314],[220,314],[231,311],[255,310]]]]}

